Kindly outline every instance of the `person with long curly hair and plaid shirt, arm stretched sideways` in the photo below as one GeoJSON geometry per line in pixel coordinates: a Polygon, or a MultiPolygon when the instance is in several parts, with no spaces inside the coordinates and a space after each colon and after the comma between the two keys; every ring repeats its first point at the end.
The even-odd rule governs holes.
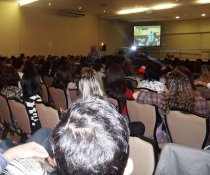
{"type": "Polygon", "coordinates": [[[198,93],[194,93],[189,78],[180,71],[173,71],[167,77],[168,91],[155,93],[145,89],[133,94],[137,102],[155,105],[159,108],[162,119],[170,108],[189,111],[210,116],[207,101],[198,93]]]}

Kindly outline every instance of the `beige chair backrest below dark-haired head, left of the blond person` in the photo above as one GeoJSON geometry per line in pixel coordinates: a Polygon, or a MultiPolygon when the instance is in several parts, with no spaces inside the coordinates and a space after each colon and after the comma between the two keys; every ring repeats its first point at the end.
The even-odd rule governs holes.
{"type": "Polygon", "coordinates": [[[68,108],[66,92],[63,89],[49,87],[49,93],[56,109],[63,108],[66,110],[68,108]]]}

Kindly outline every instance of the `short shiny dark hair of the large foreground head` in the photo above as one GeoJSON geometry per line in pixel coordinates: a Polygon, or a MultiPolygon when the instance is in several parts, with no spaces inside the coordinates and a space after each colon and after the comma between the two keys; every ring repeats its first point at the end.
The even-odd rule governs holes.
{"type": "Polygon", "coordinates": [[[75,103],[52,132],[61,175],[121,175],[129,154],[129,130],[115,106],[92,96],[75,103]]]}

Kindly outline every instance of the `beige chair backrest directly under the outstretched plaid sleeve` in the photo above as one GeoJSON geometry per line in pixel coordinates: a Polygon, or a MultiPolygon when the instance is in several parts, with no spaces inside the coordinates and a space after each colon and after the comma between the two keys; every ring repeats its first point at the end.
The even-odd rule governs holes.
{"type": "Polygon", "coordinates": [[[135,100],[127,100],[127,110],[131,122],[140,121],[145,126],[144,136],[155,138],[156,110],[155,106],[140,104],[135,100]]]}

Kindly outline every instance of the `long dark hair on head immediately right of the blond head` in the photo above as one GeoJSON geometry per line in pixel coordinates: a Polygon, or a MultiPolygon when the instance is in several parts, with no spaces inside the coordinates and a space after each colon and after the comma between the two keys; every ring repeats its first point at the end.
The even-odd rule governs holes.
{"type": "Polygon", "coordinates": [[[108,96],[117,99],[125,97],[125,74],[119,64],[114,63],[107,69],[104,82],[105,90],[108,96]]]}

